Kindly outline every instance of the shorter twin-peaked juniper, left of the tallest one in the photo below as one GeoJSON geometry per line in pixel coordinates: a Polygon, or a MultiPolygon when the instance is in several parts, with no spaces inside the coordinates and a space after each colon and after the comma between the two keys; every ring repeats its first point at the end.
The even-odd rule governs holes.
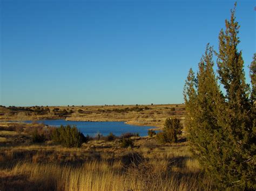
{"type": "Polygon", "coordinates": [[[207,44],[205,54],[199,62],[197,79],[188,74],[184,97],[186,103],[186,126],[194,156],[206,172],[213,171],[213,153],[218,152],[213,143],[215,131],[219,129],[216,119],[220,90],[213,70],[213,48],[207,44]]]}

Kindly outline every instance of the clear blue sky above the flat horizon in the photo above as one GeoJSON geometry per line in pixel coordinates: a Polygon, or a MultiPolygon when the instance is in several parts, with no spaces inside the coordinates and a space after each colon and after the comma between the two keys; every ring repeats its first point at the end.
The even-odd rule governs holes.
{"type": "MultiPolygon", "coordinates": [[[[234,1],[1,1],[2,105],[183,103],[234,1]]],[[[254,1],[238,1],[245,70],[254,1]]],[[[247,75],[248,76],[248,75],[247,75]]],[[[249,81],[249,79],[247,79],[249,81]]]]}

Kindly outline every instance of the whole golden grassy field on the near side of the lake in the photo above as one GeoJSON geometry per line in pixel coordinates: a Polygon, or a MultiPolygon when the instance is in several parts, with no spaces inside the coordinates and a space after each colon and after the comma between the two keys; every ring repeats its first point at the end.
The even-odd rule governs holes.
{"type": "Polygon", "coordinates": [[[68,148],[32,143],[32,128],[40,124],[0,124],[0,190],[212,189],[184,135],[175,144],[132,137],[134,146],[127,148],[119,138],[68,148]]]}

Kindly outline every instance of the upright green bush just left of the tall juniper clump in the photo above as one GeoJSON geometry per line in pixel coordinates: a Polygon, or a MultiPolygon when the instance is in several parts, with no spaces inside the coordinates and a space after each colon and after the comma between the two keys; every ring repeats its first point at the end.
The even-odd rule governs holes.
{"type": "Polygon", "coordinates": [[[182,133],[182,125],[178,118],[167,118],[163,132],[157,133],[157,140],[161,144],[176,143],[178,140],[177,135],[182,133]]]}

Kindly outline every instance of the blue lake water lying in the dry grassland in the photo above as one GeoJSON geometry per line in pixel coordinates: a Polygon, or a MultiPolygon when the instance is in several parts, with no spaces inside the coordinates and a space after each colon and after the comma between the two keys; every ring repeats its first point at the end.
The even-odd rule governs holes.
{"type": "MultiPolygon", "coordinates": [[[[32,121],[25,121],[26,123],[32,123],[32,121]]],[[[147,131],[153,126],[137,126],[129,125],[124,122],[79,122],[79,121],[65,121],[63,119],[56,120],[42,120],[37,121],[38,123],[43,123],[45,125],[60,126],[60,125],[76,125],[77,128],[85,136],[88,134],[90,136],[95,136],[97,132],[106,136],[112,132],[116,136],[122,135],[122,133],[131,132],[139,133],[140,136],[147,136],[147,131]]]]}

